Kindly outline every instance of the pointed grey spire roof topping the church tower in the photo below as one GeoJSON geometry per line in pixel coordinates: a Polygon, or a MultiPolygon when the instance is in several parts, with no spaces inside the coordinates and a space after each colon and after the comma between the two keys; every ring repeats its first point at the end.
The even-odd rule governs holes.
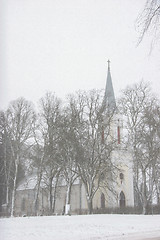
{"type": "Polygon", "coordinates": [[[114,90],[112,85],[109,60],[108,60],[107,82],[106,82],[105,95],[104,95],[104,104],[108,106],[110,110],[114,110],[116,108],[116,100],[115,100],[114,90]]]}

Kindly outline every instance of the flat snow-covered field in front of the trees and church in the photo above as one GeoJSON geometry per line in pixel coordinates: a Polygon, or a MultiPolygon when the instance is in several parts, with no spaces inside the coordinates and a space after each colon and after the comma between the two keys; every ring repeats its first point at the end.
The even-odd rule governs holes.
{"type": "Polygon", "coordinates": [[[81,215],[0,219],[1,240],[160,239],[160,215],[81,215]]]}

